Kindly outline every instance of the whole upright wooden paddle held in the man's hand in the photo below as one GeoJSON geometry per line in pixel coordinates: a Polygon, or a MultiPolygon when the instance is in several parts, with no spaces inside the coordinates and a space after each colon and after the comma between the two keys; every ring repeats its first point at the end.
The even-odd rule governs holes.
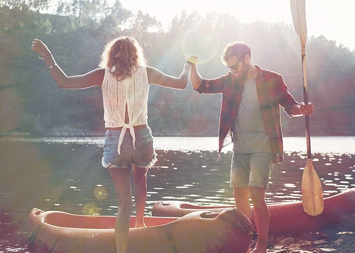
{"type": "MultiPolygon", "coordinates": [[[[304,103],[308,104],[308,88],[306,74],[306,4],[305,0],[290,0],[292,20],[296,33],[301,40],[301,58],[302,58],[302,79],[304,103]]],[[[307,163],[302,174],[302,205],[304,212],[308,215],[316,216],[323,212],[323,190],[321,180],[314,170],[312,164],[312,153],[310,148],[309,116],[306,120],[306,140],[307,140],[307,163]]]]}

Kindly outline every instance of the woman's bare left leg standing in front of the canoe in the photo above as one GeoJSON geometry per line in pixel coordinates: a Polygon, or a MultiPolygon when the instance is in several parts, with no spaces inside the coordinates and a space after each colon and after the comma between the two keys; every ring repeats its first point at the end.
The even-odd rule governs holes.
{"type": "Polygon", "coordinates": [[[132,190],[129,168],[110,168],[115,187],[118,210],[115,227],[117,253],[126,253],[128,246],[129,220],[132,213],[132,190]]]}

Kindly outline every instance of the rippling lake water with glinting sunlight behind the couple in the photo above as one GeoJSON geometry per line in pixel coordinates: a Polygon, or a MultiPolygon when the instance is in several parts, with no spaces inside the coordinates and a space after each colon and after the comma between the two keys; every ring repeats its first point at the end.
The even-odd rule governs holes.
{"type": "MultiPolygon", "coordinates": [[[[267,202],[301,200],[305,138],[284,139],[285,161],[274,165],[267,202]]],[[[355,187],[355,137],[312,137],[313,166],[324,196],[355,187]]],[[[229,145],[218,138],[156,137],[158,162],[148,172],[145,213],[155,202],[234,204],[229,145]]],[[[26,251],[26,216],[33,207],[74,214],[115,215],[111,178],[102,169],[103,138],[0,139],[0,252],[26,251]]],[[[132,215],[134,215],[134,209],[132,215]]]]}

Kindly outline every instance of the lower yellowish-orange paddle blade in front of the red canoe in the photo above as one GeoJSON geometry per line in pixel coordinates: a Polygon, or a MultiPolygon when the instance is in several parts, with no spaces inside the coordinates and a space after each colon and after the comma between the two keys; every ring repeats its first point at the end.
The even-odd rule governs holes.
{"type": "Polygon", "coordinates": [[[323,190],[321,180],[308,159],[302,174],[302,205],[306,214],[316,216],[323,212],[323,190]]]}

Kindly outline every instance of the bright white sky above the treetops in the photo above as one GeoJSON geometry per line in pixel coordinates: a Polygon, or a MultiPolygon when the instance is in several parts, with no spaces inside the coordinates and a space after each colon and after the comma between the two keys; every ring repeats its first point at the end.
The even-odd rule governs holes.
{"type": "MultiPolygon", "coordinates": [[[[112,0],[113,1],[113,0],[112,0]]],[[[183,10],[200,14],[216,12],[228,13],[237,17],[242,23],[256,20],[266,22],[285,22],[292,24],[289,0],[120,0],[123,8],[137,13],[149,13],[161,22],[164,29],[175,15],[183,10]],[[207,4],[208,3],[208,4],[207,4]]],[[[324,35],[342,44],[351,51],[355,50],[355,1],[352,0],[306,0],[307,35],[324,35]]]]}

